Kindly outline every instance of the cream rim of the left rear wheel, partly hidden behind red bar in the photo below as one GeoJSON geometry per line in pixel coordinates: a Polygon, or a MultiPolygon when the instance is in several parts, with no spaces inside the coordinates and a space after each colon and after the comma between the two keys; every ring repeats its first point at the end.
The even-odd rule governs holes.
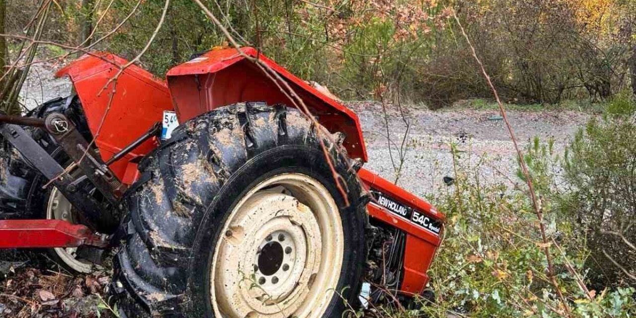
{"type": "MultiPolygon", "coordinates": [[[[53,188],[46,205],[46,219],[59,219],[70,223],[76,223],[73,218],[73,205],[62,192],[53,188]]],[[[53,247],[55,254],[70,268],[80,273],[88,273],[92,270],[90,263],[79,261],[76,256],[77,247],[53,247]]]]}

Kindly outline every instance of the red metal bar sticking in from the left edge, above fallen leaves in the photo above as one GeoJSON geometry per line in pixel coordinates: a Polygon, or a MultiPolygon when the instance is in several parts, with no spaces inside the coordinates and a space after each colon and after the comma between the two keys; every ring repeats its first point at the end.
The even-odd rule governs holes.
{"type": "Polygon", "coordinates": [[[0,248],[107,247],[106,237],[84,225],[60,220],[29,219],[0,221],[0,248]]]}

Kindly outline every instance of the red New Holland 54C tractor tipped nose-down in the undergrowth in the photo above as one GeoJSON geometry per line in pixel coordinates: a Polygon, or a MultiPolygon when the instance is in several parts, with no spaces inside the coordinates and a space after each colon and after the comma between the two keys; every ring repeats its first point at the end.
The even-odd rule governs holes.
{"type": "Polygon", "coordinates": [[[361,167],[347,107],[253,48],[165,81],[126,64],[85,55],[57,73],[74,95],[0,114],[0,248],[88,272],[117,247],[121,317],[341,317],[424,293],[444,215],[361,167]]]}

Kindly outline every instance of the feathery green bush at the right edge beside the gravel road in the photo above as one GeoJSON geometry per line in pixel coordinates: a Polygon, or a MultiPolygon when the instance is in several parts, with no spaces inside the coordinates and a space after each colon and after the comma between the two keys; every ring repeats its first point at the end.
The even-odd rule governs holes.
{"type": "Polygon", "coordinates": [[[576,134],[565,156],[560,209],[588,237],[594,286],[636,284],[635,109],[630,93],[616,95],[602,118],[576,134]]]}

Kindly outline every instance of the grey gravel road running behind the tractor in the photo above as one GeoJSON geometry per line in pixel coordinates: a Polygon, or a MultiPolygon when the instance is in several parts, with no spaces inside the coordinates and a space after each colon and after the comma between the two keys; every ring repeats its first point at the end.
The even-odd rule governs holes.
{"type": "MultiPolygon", "coordinates": [[[[29,109],[39,103],[71,92],[68,79],[55,79],[56,64],[36,64],[21,92],[29,109]]],[[[397,149],[402,142],[406,125],[396,107],[387,107],[389,137],[382,105],[376,102],[350,102],[347,104],[358,114],[363,128],[369,162],[364,167],[391,181],[396,179],[396,169],[401,160],[397,149]]],[[[497,183],[515,179],[516,156],[508,130],[501,120],[488,120],[497,111],[473,109],[449,109],[428,111],[417,107],[408,109],[404,118],[410,122],[406,137],[403,167],[398,184],[406,190],[424,196],[444,188],[442,178],[453,176],[450,144],[457,144],[460,164],[476,165],[483,182],[497,183]]],[[[509,120],[517,138],[523,145],[534,136],[542,141],[553,137],[557,151],[569,137],[589,118],[590,114],[576,111],[520,112],[510,111],[509,120]]]]}

